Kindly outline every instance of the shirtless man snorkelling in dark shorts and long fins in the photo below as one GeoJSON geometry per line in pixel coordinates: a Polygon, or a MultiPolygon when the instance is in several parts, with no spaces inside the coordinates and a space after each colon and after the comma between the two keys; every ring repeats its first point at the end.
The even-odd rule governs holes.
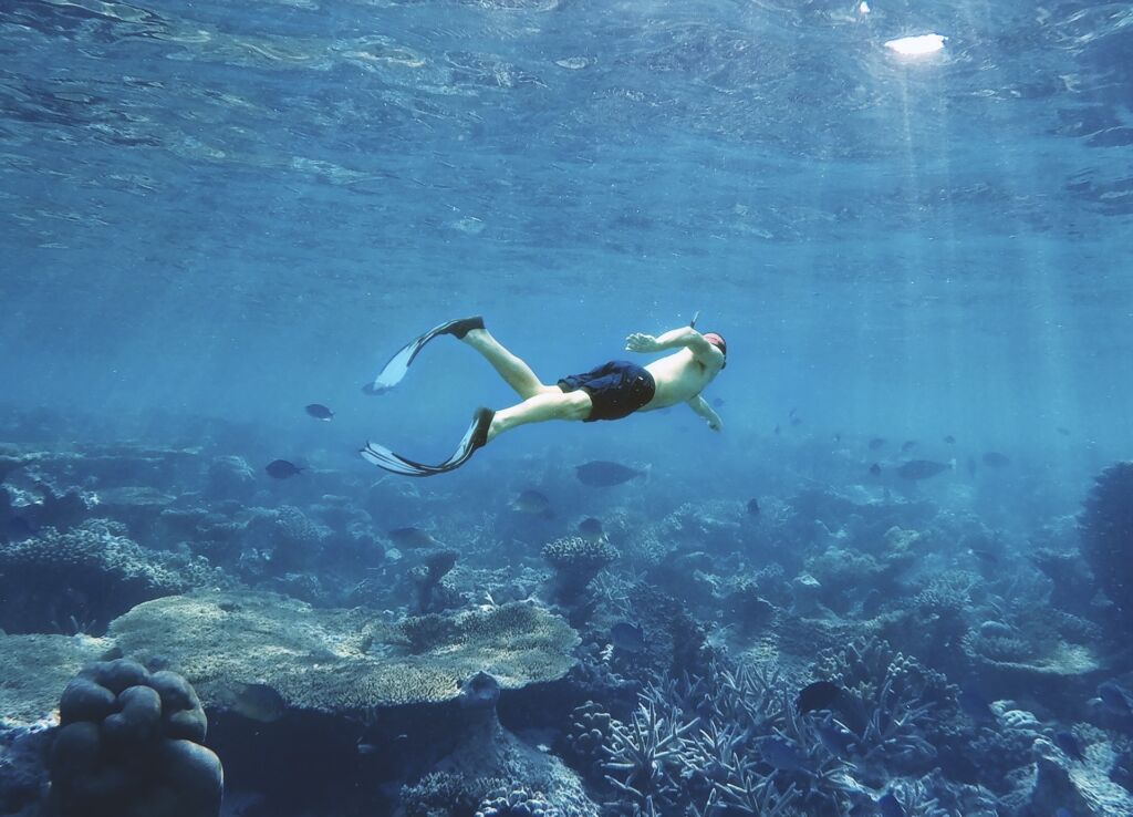
{"type": "Polygon", "coordinates": [[[672,355],[638,366],[628,360],[611,360],[582,374],[568,375],[556,385],[547,385],[535,376],[530,366],[508,351],[484,327],[484,318],[466,317],[435,326],[402,347],[373,383],[363,391],[381,394],[401,382],[417,354],[434,338],[451,334],[484,356],[506,381],[521,402],[493,411],[478,408],[472,416],[455,453],[435,466],[406,459],[393,451],[367,443],[361,456],[380,468],[411,477],[427,477],[459,468],[477,450],[500,434],[546,420],[615,420],[637,411],[653,411],[679,402],[700,415],[713,431],[722,423],[700,392],[724,368],[727,344],[715,332],[701,334],[692,324],[674,329],[659,337],[634,332],[625,339],[625,349],[642,354],[676,349],[672,355]]]}

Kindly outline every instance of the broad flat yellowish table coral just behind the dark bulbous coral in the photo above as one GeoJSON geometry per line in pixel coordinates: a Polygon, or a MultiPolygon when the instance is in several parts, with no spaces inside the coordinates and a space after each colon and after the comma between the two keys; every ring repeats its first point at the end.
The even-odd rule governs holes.
{"type": "Polygon", "coordinates": [[[423,618],[415,632],[270,593],[199,594],[140,604],[109,635],[127,655],[169,662],[206,703],[225,684],[263,683],[288,707],[329,713],[453,700],[478,671],[516,689],[574,663],[577,633],[533,605],[423,618]]]}

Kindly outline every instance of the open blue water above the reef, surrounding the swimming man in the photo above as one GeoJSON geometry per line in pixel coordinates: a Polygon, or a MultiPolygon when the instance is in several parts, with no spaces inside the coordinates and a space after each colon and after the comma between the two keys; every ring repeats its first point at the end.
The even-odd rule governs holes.
{"type": "Polygon", "coordinates": [[[0,405],[363,479],[366,440],[438,461],[514,401],[441,341],[363,394],[429,326],[554,382],[699,312],[722,434],[528,427],[431,490],[583,512],[610,459],[664,514],[915,440],[956,466],[917,496],[1025,542],[1133,456],[1131,145],[1126,3],[3,0],[0,405]]]}

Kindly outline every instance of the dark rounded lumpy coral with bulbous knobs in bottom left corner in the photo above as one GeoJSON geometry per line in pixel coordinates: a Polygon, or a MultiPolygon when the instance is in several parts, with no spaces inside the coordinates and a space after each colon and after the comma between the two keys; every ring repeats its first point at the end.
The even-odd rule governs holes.
{"type": "Polygon", "coordinates": [[[180,675],[117,659],[85,667],[59,700],[50,802],[60,817],[216,817],[224,775],[180,675]]]}

